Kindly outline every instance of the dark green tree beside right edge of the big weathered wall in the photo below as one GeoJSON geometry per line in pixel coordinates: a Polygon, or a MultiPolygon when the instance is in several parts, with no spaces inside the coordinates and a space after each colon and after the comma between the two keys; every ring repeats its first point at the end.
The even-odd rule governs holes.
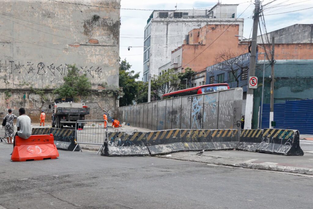
{"type": "Polygon", "coordinates": [[[136,99],[138,91],[138,83],[136,79],[139,78],[139,72],[130,70],[131,65],[125,60],[120,62],[120,87],[123,87],[124,96],[120,98],[120,106],[132,105],[133,100],[136,99]]]}

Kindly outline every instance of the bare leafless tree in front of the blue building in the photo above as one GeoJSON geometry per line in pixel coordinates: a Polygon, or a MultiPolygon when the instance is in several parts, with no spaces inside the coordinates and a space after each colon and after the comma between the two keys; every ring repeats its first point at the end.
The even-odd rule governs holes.
{"type": "Polygon", "coordinates": [[[228,51],[220,51],[215,57],[215,64],[215,70],[223,70],[230,73],[226,82],[237,82],[237,87],[239,87],[239,78],[243,73],[248,72],[249,66],[242,61],[240,54],[233,53],[230,49],[228,51]]]}

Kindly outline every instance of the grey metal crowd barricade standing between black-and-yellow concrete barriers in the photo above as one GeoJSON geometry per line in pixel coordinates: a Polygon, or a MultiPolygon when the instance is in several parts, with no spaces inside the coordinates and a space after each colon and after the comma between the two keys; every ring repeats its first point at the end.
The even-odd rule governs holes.
{"type": "Polygon", "coordinates": [[[76,121],[75,126],[75,142],[76,146],[73,152],[79,147],[80,151],[80,144],[94,144],[94,145],[101,145],[100,150],[104,147],[104,142],[106,139],[106,131],[107,126],[104,128],[104,122],[108,126],[108,121],[106,120],[86,120],[86,121],[76,121]]]}

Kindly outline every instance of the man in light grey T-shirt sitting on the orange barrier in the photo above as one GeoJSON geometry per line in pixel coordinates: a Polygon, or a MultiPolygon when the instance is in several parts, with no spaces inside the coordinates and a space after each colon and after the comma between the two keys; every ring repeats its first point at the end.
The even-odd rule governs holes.
{"type": "Polygon", "coordinates": [[[27,115],[25,115],[25,109],[20,108],[18,110],[18,113],[20,115],[16,121],[16,127],[18,128],[18,131],[14,135],[13,148],[15,147],[15,136],[19,136],[23,139],[28,139],[32,135],[32,129],[30,127],[31,120],[27,115]]]}

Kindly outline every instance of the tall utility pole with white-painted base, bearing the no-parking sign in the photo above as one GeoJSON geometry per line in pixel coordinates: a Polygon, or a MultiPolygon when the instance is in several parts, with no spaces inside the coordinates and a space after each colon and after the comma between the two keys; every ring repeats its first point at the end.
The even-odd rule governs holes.
{"type": "MultiPolygon", "coordinates": [[[[257,44],[256,40],[258,36],[258,23],[259,23],[259,12],[260,12],[259,10],[260,10],[260,0],[255,0],[248,82],[249,82],[249,78],[251,76],[254,76],[254,73],[255,73],[255,56],[256,56],[256,44],[257,44]]],[[[249,88],[249,84],[248,84],[246,112],[244,116],[244,129],[251,129],[252,112],[253,112],[253,92],[254,92],[254,89],[249,88]]]]}

